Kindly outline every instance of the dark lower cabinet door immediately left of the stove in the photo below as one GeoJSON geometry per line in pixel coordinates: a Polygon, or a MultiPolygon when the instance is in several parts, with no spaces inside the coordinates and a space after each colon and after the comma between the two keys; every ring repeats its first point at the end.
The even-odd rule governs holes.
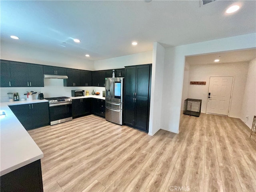
{"type": "Polygon", "coordinates": [[[30,104],[32,129],[50,125],[48,102],[30,104]]]}

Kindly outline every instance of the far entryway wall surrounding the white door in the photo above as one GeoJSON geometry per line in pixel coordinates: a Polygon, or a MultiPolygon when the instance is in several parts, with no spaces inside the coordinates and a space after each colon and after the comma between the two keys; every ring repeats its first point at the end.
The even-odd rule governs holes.
{"type": "Polygon", "coordinates": [[[188,85],[188,98],[202,99],[201,112],[206,112],[210,76],[233,76],[230,117],[240,118],[242,94],[246,85],[247,62],[190,65],[190,81],[206,81],[206,85],[188,85]]]}

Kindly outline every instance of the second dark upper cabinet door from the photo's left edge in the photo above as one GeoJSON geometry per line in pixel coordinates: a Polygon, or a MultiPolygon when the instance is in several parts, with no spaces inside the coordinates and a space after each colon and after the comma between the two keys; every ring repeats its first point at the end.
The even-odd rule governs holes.
{"type": "Polygon", "coordinates": [[[12,87],[28,87],[30,67],[26,63],[10,62],[12,87]]]}

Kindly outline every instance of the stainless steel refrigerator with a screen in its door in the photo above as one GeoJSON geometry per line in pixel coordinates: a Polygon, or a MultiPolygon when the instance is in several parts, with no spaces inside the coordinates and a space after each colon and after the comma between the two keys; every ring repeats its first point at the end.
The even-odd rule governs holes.
{"type": "Polygon", "coordinates": [[[123,87],[123,77],[105,78],[105,118],[120,125],[123,124],[123,87]]]}

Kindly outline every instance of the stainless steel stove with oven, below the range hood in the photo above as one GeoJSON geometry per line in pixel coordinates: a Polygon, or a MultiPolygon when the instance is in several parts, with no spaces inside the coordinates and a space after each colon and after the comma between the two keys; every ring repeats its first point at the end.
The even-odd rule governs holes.
{"type": "Polygon", "coordinates": [[[72,99],[69,97],[45,98],[49,100],[50,125],[72,120],[72,99]]]}

